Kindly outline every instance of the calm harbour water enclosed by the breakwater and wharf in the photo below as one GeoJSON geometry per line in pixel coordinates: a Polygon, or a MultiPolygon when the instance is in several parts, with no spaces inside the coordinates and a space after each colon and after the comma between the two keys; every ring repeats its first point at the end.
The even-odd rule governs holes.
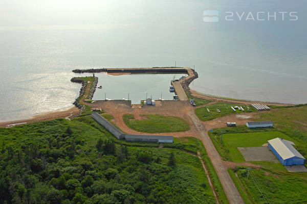
{"type": "Polygon", "coordinates": [[[130,99],[132,104],[140,104],[141,100],[152,98],[172,100],[175,95],[169,92],[170,81],[179,79],[186,74],[127,74],[108,75],[106,73],[96,73],[98,86],[93,100],[109,99],[130,99]]]}

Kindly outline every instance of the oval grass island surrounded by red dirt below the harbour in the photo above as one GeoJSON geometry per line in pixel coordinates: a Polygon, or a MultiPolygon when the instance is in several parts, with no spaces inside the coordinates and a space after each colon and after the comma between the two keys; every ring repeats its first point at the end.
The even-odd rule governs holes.
{"type": "Polygon", "coordinates": [[[182,132],[190,129],[189,123],[180,117],[142,115],[146,119],[134,120],[134,115],[124,114],[125,124],[132,130],[143,133],[182,132]]]}

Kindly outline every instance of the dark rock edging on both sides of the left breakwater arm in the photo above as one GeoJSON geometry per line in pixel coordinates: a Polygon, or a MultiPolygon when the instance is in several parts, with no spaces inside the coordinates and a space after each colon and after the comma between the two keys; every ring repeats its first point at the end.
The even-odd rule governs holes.
{"type": "MultiPolygon", "coordinates": [[[[81,112],[80,112],[80,115],[82,114],[82,111],[85,110],[85,106],[81,105],[79,103],[79,100],[82,98],[82,96],[84,95],[85,93],[85,89],[86,89],[86,86],[87,86],[87,82],[86,81],[83,81],[83,80],[80,80],[78,79],[77,77],[74,77],[71,79],[71,82],[75,82],[75,83],[81,83],[82,86],[81,86],[81,89],[80,89],[80,92],[79,92],[79,96],[76,98],[76,100],[74,101],[73,105],[75,105],[75,107],[77,107],[81,112]]],[[[90,93],[89,93],[89,100],[92,100],[93,98],[93,95],[95,93],[95,90],[96,90],[96,86],[97,86],[97,83],[98,83],[98,77],[94,77],[94,81],[93,81],[93,84],[90,88],[90,93]]]]}

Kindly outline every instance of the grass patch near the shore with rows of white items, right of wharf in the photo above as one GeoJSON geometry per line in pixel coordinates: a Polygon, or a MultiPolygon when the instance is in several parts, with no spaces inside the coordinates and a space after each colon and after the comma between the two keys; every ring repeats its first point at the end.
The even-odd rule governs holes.
{"type": "MultiPolygon", "coordinates": [[[[231,107],[234,107],[234,106],[242,106],[242,105],[217,102],[209,106],[195,109],[195,114],[199,117],[200,120],[207,121],[207,120],[212,120],[214,118],[223,117],[226,115],[231,115],[234,113],[244,113],[243,111],[239,111],[239,110],[236,110],[236,112],[234,112],[231,109],[231,107]],[[209,109],[210,112],[207,111],[207,108],[209,109]],[[221,112],[218,113],[216,109],[220,110],[221,112]]],[[[242,106],[242,107],[245,109],[245,112],[248,112],[246,106],[242,106]]],[[[256,109],[250,106],[249,112],[253,112],[253,111],[256,111],[256,109]]]]}

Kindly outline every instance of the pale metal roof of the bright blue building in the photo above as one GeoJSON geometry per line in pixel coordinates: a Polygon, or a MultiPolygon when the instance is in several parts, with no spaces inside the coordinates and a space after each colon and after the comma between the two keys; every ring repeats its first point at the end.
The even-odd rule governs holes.
{"type": "Polygon", "coordinates": [[[278,152],[283,160],[298,157],[305,159],[295,148],[294,143],[285,139],[280,139],[279,137],[268,141],[272,147],[278,152]]]}

